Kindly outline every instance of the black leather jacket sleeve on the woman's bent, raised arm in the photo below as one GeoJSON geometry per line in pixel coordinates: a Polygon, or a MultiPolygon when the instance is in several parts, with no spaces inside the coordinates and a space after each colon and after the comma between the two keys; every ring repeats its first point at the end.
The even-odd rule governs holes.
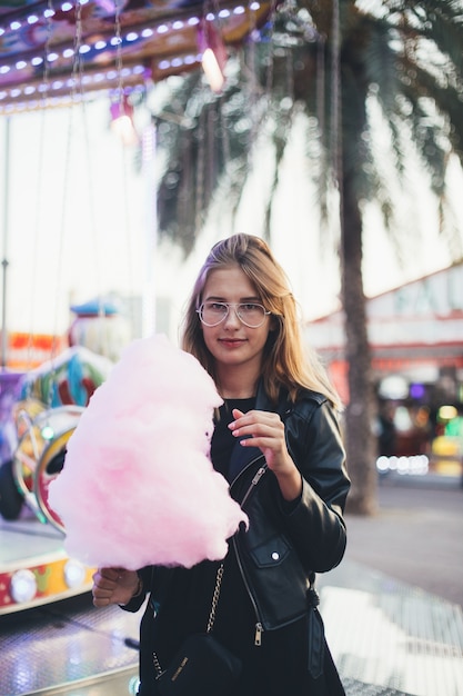
{"type": "Polygon", "coordinates": [[[328,401],[298,408],[286,427],[290,455],[302,475],[302,495],[285,515],[288,535],[306,570],[341,563],[346,534],[343,510],[350,480],[340,428],[328,401]]]}

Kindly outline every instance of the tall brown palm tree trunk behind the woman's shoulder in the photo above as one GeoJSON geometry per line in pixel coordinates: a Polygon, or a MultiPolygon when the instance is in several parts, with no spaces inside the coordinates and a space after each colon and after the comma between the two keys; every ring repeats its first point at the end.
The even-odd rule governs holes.
{"type": "Polygon", "coordinates": [[[345,411],[345,445],[352,488],[348,511],[372,515],[376,510],[376,444],[371,354],[362,278],[362,216],[352,177],[342,178],[341,266],[344,308],[345,360],[349,404],[345,411]]]}

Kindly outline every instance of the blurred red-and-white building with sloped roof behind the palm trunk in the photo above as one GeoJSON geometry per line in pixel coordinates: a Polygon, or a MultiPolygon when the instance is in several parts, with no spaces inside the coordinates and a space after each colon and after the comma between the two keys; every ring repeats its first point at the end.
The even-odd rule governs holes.
{"type": "MultiPolygon", "coordinates": [[[[445,430],[442,406],[463,402],[463,262],[366,302],[372,369],[380,414],[392,409],[394,454],[433,454],[445,430]]],[[[306,327],[308,341],[349,401],[343,312],[306,327]]]]}

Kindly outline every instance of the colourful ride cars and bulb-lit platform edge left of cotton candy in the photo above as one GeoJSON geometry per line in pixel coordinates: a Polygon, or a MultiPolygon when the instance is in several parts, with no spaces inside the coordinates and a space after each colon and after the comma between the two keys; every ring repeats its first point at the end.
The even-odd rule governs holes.
{"type": "MultiPolygon", "coordinates": [[[[60,344],[57,355],[33,369],[29,365],[27,372],[16,375],[8,385],[2,382],[4,420],[12,436],[0,461],[0,514],[4,518],[0,614],[57,601],[88,591],[92,585],[94,568],[64,550],[66,529],[48,504],[48,489],[63,467],[69,438],[82,412],[129,342],[130,332],[109,304],[88,302],[71,309],[77,317],[69,329],[70,347],[60,344]],[[26,545],[28,550],[19,555],[18,535],[31,524],[27,516],[19,519],[24,504],[51,529],[44,530],[42,544],[41,525],[39,531],[36,527],[33,548],[26,545]]],[[[37,520],[32,524],[37,526],[37,520]]]]}

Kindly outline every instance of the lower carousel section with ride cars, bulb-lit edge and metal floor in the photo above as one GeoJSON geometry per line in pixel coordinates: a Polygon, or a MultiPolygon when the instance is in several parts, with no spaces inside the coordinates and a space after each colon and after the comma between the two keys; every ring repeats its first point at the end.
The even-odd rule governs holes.
{"type": "Polygon", "coordinates": [[[1,380],[2,432],[9,432],[0,466],[1,694],[137,689],[138,617],[93,609],[94,568],[67,553],[66,527],[49,504],[68,443],[114,365],[72,344],[94,348],[97,335],[121,335],[120,321],[127,329],[111,315],[78,315],[59,356],[1,380]]]}

